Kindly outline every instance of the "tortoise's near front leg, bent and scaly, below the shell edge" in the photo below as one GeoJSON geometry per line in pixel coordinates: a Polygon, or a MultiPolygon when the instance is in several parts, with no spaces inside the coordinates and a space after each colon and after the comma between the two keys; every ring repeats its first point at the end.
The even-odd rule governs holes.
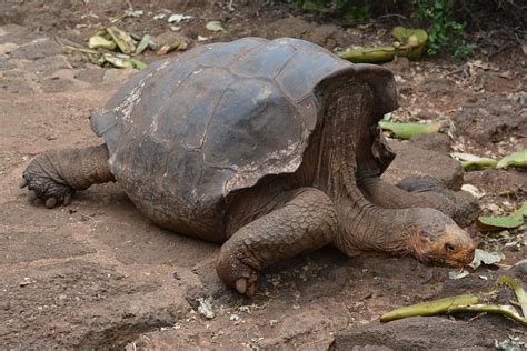
{"type": "Polygon", "coordinates": [[[324,192],[302,188],[288,201],[239,229],[221,248],[216,271],[238,292],[252,295],[264,268],[334,241],[337,214],[324,192]]]}

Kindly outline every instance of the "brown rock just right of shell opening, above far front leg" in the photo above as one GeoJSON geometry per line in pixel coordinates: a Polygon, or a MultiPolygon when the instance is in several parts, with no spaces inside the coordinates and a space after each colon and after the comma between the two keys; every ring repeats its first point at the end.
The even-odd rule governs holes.
{"type": "Polygon", "coordinates": [[[397,153],[382,178],[395,184],[404,178],[432,177],[448,188],[459,190],[463,184],[461,163],[441,152],[425,150],[410,142],[391,140],[390,148],[397,153]]]}

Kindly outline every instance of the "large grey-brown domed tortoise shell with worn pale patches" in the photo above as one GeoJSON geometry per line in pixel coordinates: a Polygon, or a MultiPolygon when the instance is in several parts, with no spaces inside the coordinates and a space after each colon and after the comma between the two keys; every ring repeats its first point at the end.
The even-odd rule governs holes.
{"type": "Polygon", "coordinates": [[[202,46],[141,71],[91,127],[140,211],[222,241],[229,193],[295,172],[320,114],[317,84],[356,67],[289,38],[202,46]]]}

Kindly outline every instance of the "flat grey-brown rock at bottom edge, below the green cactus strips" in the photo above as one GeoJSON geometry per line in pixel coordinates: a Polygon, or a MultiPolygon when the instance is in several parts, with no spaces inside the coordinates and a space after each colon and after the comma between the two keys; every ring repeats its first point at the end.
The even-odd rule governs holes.
{"type": "Polygon", "coordinates": [[[457,348],[493,348],[499,331],[481,329],[477,324],[439,317],[417,317],[386,324],[372,322],[351,327],[335,337],[334,350],[428,350],[457,348]]]}

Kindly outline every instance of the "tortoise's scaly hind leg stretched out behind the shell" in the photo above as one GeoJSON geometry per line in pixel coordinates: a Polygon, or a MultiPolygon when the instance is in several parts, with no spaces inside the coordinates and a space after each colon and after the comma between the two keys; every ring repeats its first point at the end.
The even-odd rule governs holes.
{"type": "Polygon", "coordinates": [[[48,150],[26,168],[20,188],[28,187],[33,191],[32,197],[44,201],[47,208],[66,205],[76,190],[115,180],[108,158],[106,144],[48,150]]]}

